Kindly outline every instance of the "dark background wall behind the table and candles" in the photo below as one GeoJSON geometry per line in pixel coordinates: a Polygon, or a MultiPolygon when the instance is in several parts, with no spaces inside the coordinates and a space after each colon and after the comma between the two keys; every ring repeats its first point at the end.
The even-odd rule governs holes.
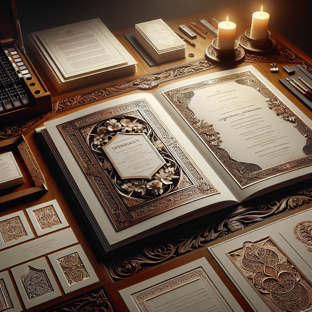
{"type": "MultiPolygon", "coordinates": [[[[111,32],[162,18],[165,22],[244,5],[270,14],[270,26],[312,56],[312,0],[15,0],[23,39],[31,32],[99,17],[111,32]]],[[[226,20],[218,18],[220,22],[226,20]]],[[[229,16],[235,22],[235,17],[229,16]]]]}

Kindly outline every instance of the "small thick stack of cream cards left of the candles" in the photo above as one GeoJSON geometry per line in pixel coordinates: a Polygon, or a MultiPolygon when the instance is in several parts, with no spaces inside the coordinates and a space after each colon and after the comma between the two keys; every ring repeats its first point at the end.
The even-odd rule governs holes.
{"type": "Polygon", "coordinates": [[[136,24],[135,38],[158,63],[186,56],[185,43],[162,19],[136,24]]]}

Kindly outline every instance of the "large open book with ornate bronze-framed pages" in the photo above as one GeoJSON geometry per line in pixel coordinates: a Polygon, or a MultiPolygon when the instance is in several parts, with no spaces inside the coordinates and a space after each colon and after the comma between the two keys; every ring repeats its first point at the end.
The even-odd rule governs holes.
{"type": "Polygon", "coordinates": [[[110,100],[41,133],[109,251],[308,178],[308,124],[246,66],[110,100]]]}

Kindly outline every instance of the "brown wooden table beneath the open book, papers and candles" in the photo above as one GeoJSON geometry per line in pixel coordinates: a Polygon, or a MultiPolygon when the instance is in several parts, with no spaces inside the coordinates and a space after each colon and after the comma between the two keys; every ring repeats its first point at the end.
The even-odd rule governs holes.
{"type": "MultiPolygon", "coordinates": [[[[232,7],[231,9],[227,8],[227,12],[233,17],[232,21],[235,22],[237,25],[237,40],[238,37],[243,34],[247,28],[250,27],[251,13],[245,12],[242,7],[232,7]]],[[[178,32],[178,25],[188,25],[189,22],[197,22],[197,20],[201,18],[205,18],[206,20],[208,20],[208,18],[215,17],[217,18],[217,20],[221,20],[222,16],[224,16],[224,10],[218,10],[191,16],[188,18],[181,18],[175,21],[168,22],[168,24],[174,31],[178,32]]],[[[73,309],[78,307],[80,304],[81,306],[78,307],[75,311],[88,311],[87,305],[90,302],[92,302],[92,305],[94,306],[98,304],[103,304],[103,306],[106,307],[107,311],[127,311],[128,309],[121,299],[118,290],[121,290],[130,285],[134,285],[138,282],[144,281],[148,278],[159,275],[201,257],[205,257],[207,261],[209,261],[214,270],[217,271],[218,275],[221,277],[222,281],[232,292],[233,296],[240,303],[242,308],[245,311],[252,311],[246,300],[242,297],[242,295],[239,293],[239,291],[236,289],[236,287],[233,285],[227,275],[222,271],[221,267],[213,259],[209,251],[207,251],[207,246],[215,244],[215,241],[203,241],[203,243],[199,246],[191,246],[190,244],[188,249],[184,252],[181,252],[180,254],[177,252],[178,238],[183,238],[184,241],[187,241],[188,238],[192,236],[194,236],[194,238],[200,237],[201,231],[193,230],[195,232],[192,232],[191,223],[188,223],[188,226],[190,227],[189,232],[182,232],[182,227],[178,227],[176,230],[180,231],[178,233],[176,231],[176,233],[171,232],[171,234],[170,231],[167,231],[165,234],[160,233],[158,235],[154,235],[151,238],[144,239],[139,243],[134,244],[133,246],[131,246],[131,249],[129,249],[129,246],[125,246],[122,250],[119,250],[118,254],[110,256],[104,261],[103,259],[100,259],[100,256],[97,253],[96,244],[92,240],[90,233],[85,227],[83,218],[78,214],[75,204],[71,197],[68,195],[63,181],[56,173],[56,170],[51,163],[51,159],[49,158],[48,153],[43,149],[37,136],[34,135],[34,129],[43,126],[42,123],[46,120],[58,118],[63,115],[70,114],[73,111],[81,110],[91,105],[95,105],[100,102],[110,100],[112,98],[123,96],[126,92],[153,92],[155,89],[152,90],[151,88],[149,88],[148,84],[151,77],[156,77],[156,81],[158,82],[158,88],[159,86],[169,84],[173,80],[183,80],[185,78],[200,76],[206,73],[212,73],[235,67],[250,65],[251,63],[258,71],[261,72],[262,75],[270,80],[276,88],[278,88],[297,107],[299,107],[299,109],[303,111],[305,115],[309,116],[311,119],[311,111],[305,105],[303,105],[294,95],[286,90],[279,83],[278,80],[280,78],[288,76],[288,74],[282,69],[282,66],[284,65],[292,66],[300,64],[305,66],[306,69],[311,72],[312,59],[310,56],[305,54],[294,44],[288,41],[285,37],[281,36],[274,29],[271,29],[269,27],[269,30],[271,31],[272,36],[277,42],[277,50],[274,52],[274,54],[271,55],[256,56],[246,53],[245,61],[240,64],[228,64],[227,66],[217,66],[211,64],[204,58],[205,48],[214,39],[214,37],[210,33],[208,33],[207,35],[204,35],[206,40],[197,36],[197,39],[193,41],[196,44],[195,48],[186,45],[186,59],[167,62],[153,67],[147,65],[147,63],[138,55],[138,53],[123,36],[124,33],[133,32],[133,28],[116,32],[115,36],[117,37],[117,39],[138,61],[137,73],[130,77],[119,77],[114,80],[103,81],[100,84],[88,85],[83,89],[68,90],[61,93],[58,93],[56,91],[32,52],[27,50],[27,55],[30,57],[32,63],[34,64],[39,75],[46,84],[48,90],[51,92],[54,111],[49,114],[35,116],[33,119],[21,120],[15,125],[11,125],[5,129],[2,129],[0,137],[1,139],[9,139],[17,137],[21,134],[25,136],[25,139],[34,155],[34,158],[36,159],[39,168],[41,169],[41,172],[44,176],[48,192],[46,192],[41,197],[37,196],[33,197],[32,199],[27,199],[23,201],[4,203],[1,207],[0,216],[22,209],[25,211],[25,209],[28,207],[32,207],[56,198],[57,202],[62,208],[62,211],[64,212],[69,226],[73,229],[79,243],[81,244],[83,250],[88,256],[91,265],[93,266],[100,280],[100,282],[96,284],[87,286],[67,295],[64,294],[61,285],[57,281],[58,286],[62,292],[62,296],[54,300],[48,301],[43,305],[35,306],[29,309],[29,311],[73,311],[73,309]],[[189,53],[193,53],[195,57],[188,56],[189,53]],[[277,66],[279,67],[279,73],[271,74],[270,64],[272,62],[277,63],[277,66]],[[147,86],[145,86],[144,88],[142,87],[142,84],[139,83],[136,84],[137,86],[134,86],[134,81],[145,81],[145,85],[147,86]],[[168,237],[170,237],[171,241],[173,241],[172,245],[169,245],[168,237]],[[157,264],[157,261],[151,260],[150,258],[151,252],[154,251],[159,256],[159,264],[157,264]],[[131,274],[129,274],[130,277],[128,278],[120,278],[125,277],[125,275],[114,277],[112,274],[113,270],[110,271],[109,269],[110,264],[112,264],[113,267],[115,266],[115,268],[121,267],[123,269],[125,268],[126,264],[135,264],[139,267],[139,269],[138,272],[130,270],[131,274]],[[95,294],[97,296],[91,294],[95,294]],[[68,302],[71,301],[73,302],[68,304],[68,302]],[[110,308],[108,308],[110,305],[112,307],[112,310],[109,310],[110,308]],[[62,310],[62,307],[69,310],[62,310]],[[70,307],[74,308],[71,310],[70,307]]],[[[20,167],[25,166],[22,158],[18,158],[17,161],[20,167]]],[[[259,205],[261,204],[267,205],[266,209],[269,209],[269,204],[271,204],[272,207],[274,205],[279,205],[281,213],[277,214],[277,216],[274,217],[275,221],[281,217],[285,217],[285,214],[293,214],[312,206],[312,192],[310,185],[311,183],[309,184],[309,182],[306,181],[302,183],[297,183],[292,187],[288,187],[283,190],[276,191],[266,196],[257,198],[256,200],[244,203],[243,207],[245,207],[246,212],[252,214],[255,211],[259,211],[259,205]]],[[[26,178],[26,183],[14,188],[12,192],[23,190],[31,186],[31,179],[26,178]]],[[[235,209],[236,207],[230,207],[225,209],[224,211],[222,211],[222,217],[220,217],[220,213],[218,215],[213,214],[212,217],[209,218],[202,217],[202,223],[200,224],[202,226],[202,229],[206,227],[209,228],[210,225],[213,224],[213,222],[216,222],[216,224],[218,222],[221,222],[224,217],[226,217],[227,213],[231,213],[233,211],[235,212],[235,209]],[[212,221],[209,221],[209,219],[211,219],[212,221]]],[[[263,209],[263,207],[261,209],[263,209]]],[[[261,226],[270,222],[272,222],[272,218],[263,218],[261,226]]],[[[260,227],[260,224],[252,223],[250,227],[247,227],[239,233],[232,233],[229,235],[239,235],[242,232],[248,232],[255,227],[260,227]]],[[[37,236],[35,232],[34,235],[36,238],[37,236]]],[[[226,238],[221,238],[221,240],[222,239],[224,240],[226,238]]],[[[218,242],[219,241],[220,240],[218,240],[218,242]]],[[[18,294],[18,290],[14,282],[13,285],[18,294]]],[[[19,300],[21,302],[21,305],[23,306],[20,297],[19,300]]],[[[23,309],[25,310],[25,308],[23,309]]],[[[92,311],[97,310],[95,309],[92,311]]]]}

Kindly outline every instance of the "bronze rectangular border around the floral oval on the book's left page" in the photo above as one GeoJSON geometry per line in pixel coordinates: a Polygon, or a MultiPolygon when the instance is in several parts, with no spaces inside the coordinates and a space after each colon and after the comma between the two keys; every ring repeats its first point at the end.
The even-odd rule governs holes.
{"type": "Polygon", "coordinates": [[[117,231],[169,209],[220,193],[144,98],[97,111],[59,124],[57,127],[117,231]],[[182,168],[183,178],[180,179],[178,187],[171,192],[148,202],[125,198],[117,192],[108,174],[91,152],[85,138],[94,124],[103,119],[123,115],[144,119],[172,157],[178,161],[182,168]]]}

